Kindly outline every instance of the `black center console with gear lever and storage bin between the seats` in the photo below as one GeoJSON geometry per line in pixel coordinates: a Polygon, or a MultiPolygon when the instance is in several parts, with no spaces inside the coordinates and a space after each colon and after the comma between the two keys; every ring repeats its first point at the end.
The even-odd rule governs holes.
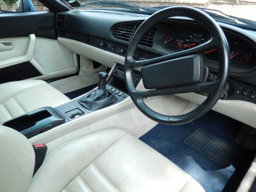
{"type": "MultiPolygon", "coordinates": [[[[99,73],[100,80],[98,89],[89,91],[89,93],[81,95],[80,97],[75,98],[61,106],[57,106],[55,108],[38,108],[37,110],[3,122],[1,125],[11,127],[16,131],[23,133],[23,135],[25,135],[27,138],[30,138],[42,132],[51,130],[51,128],[59,126],[60,124],[80,118],[81,116],[87,115],[102,108],[115,105],[129,97],[125,84],[125,72],[122,65],[115,65],[108,79],[106,79],[106,75],[108,76],[106,72],[99,73]],[[112,102],[109,102],[109,105],[108,102],[104,100],[108,99],[108,97],[112,97],[112,102]],[[93,99],[98,99],[100,103],[103,103],[101,103],[101,106],[103,107],[100,106],[97,109],[88,109],[88,107],[85,108],[83,105],[81,105],[81,99],[84,98],[85,101],[88,99],[89,102],[91,102],[93,99]]],[[[138,85],[140,80],[141,73],[133,71],[133,82],[135,87],[138,85]]]]}

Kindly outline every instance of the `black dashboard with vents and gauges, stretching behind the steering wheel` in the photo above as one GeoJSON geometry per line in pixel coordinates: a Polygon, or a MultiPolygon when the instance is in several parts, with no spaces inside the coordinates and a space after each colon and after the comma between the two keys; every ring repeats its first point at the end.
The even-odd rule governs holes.
{"type": "MultiPolygon", "coordinates": [[[[59,37],[76,40],[114,53],[114,57],[124,58],[131,37],[147,18],[148,15],[128,12],[72,10],[56,15],[56,29],[59,37]]],[[[256,103],[256,32],[224,23],[218,24],[224,31],[230,49],[229,81],[221,99],[256,103]]],[[[142,36],[134,59],[151,59],[183,51],[205,43],[210,38],[207,29],[195,20],[162,20],[142,36]]],[[[208,81],[214,80],[218,74],[218,48],[209,47],[200,55],[203,57],[204,66],[209,68],[208,81]]],[[[99,55],[94,59],[101,62],[106,58],[100,60],[99,55]]],[[[113,59],[110,60],[114,62],[113,59]]],[[[121,60],[118,62],[123,62],[121,60]]]]}

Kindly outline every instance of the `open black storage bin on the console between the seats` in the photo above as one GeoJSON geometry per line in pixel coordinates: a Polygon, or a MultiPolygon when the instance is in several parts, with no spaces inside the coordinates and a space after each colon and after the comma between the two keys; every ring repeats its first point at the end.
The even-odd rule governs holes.
{"type": "Polygon", "coordinates": [[[65,123],[65,118],[52,107],[42,107],[14,119],[3,122],[3,126],[19,131],[27,138],[65,123]]]}

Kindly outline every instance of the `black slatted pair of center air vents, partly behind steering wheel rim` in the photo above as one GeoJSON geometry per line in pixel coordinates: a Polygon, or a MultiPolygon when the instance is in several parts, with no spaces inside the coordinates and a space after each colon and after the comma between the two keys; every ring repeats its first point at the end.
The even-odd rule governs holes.
{"type": "MultiPolygon", "coordinates": [[[[123,40],[129,42],[131,37],[134,35],[135,31],[141,23],[122,23],[117,24],[112,28],[112,36],[115,39],[123,40]]],[[[153,37],[156,32],[156,27],[151,27],[147,30],[144,35],[141,37],[141,41],[139,41],[139,45],[143,45],[146,47],[153,47],[153,37]]]]}

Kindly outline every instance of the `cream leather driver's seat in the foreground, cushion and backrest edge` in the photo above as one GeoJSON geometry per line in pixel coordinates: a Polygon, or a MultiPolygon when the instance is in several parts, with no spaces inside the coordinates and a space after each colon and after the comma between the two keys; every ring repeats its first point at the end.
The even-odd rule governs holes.
{"type": "Polygon", "coordinates": [[[26,137],[0,127],[0,155],[0,191],[204,191],[174,163],[118,129],[62,145],[32,180],[35,157],[26,137]]]}

